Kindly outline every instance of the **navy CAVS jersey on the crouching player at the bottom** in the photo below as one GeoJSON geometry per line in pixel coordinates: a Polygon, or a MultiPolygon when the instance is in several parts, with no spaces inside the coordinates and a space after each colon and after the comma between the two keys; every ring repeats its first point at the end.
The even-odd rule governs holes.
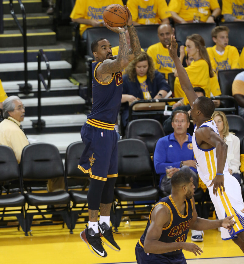
{"type": "MultiPolygon", "coordinates": [[[[162,198],[161,200],[159,200],[159,202],[157,202],[153,208],[155,206],[157,206],[158,204],[163,204],[165,206],[168,207],[168,209],[170,210],[170,215],[171,215],[171,221],[168,227],[164,227],[162,229],[162,234],[161,237],[159,239],[159,241],[162,242],[185,242],[187,239],[187,234],[190,228],[190,223],[191,223],[191,219],[193,216],[193,202],[192,199],[186,199],[185,200],[185,215],[181,215],[181,213],[178,211],[176,205],[174,204],[173,199],[171,198],[171,195],[162,198]]],[[[152,208],[152,210],[153,210],[152,208]]],[[[151,213],[149,215],[149,220],[146,226],[146,229],[142,235],[142,237],[139,240],[139,244],[143,247],[144,244],[144,240],[145,240],[145,236],[147,233],[147,230],[150,226],[151,223],[151,213]]],[[[182,252],[182,249],[180,250],[176,250],[173,252],[167,252],[167,253],[163,253],[161,255],[176,255],[182,252]]]]}

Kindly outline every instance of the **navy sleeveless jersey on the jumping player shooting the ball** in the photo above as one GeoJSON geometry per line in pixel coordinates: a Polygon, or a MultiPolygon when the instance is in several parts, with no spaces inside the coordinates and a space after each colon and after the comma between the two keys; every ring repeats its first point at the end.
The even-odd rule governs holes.
{"type": "Polygon", "coordinates": [[[122,73],[112,73],[108,83],[102,83],[95,77],[95,71],[102,62],[92,62],[92,109],[87,116],[90,119],[115,123],[120,110],[123,79],[122,73]]]}

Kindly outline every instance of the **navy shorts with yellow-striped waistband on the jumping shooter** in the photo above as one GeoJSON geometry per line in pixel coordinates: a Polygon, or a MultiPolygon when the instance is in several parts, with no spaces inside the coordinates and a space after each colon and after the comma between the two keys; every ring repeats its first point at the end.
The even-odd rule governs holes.
{"type": "Polygon", "coordinates": [[[88,119],[81,128],[81,138],[86,147],[78,168],[97,180],[117,177],[118,138],[114,124],[88,119]]]}

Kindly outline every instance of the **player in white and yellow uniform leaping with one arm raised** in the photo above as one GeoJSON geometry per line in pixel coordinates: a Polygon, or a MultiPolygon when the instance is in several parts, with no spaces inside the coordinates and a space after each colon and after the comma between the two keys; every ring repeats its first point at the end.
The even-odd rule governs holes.
{"type": "Polygon", "coordinates": [[[192,146],[199,177],[209,189],[218,218],[234,215],[233,220],[236,221],[231,230],[221,227],[221,238],[232,239],[244,252],[244,217],[241,213],[244,203],[241,187],[228,171],[227,144],[219,136],[217,126],[211,118],[214,103],[210,98],[197,97],[178,58],[175,36],[171,35],[171,45],[167,45],[167,48],[174,60],[181,88],[191,105],[194,122],[192,146]]]}

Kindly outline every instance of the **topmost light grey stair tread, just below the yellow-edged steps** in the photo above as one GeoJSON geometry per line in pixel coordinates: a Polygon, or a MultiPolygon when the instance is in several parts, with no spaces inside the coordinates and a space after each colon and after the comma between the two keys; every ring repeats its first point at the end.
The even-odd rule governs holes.
{"type": "MultiPolygon", "coordinates": [[[[71,69],[71,64],[67,61],[50,61],[50,69],[51,71],[54,69],[71,69]]],[[[27,63],[28,71],[36,71],[38,70],[38,62],[28,62],[27,63]]],[[[41,62],[41,69],[46,70],[45,62],[41,62]]],[[[16,72],[23,71],[24,63],[1,63],[0,64],[0,72],[16,72]]]]}

